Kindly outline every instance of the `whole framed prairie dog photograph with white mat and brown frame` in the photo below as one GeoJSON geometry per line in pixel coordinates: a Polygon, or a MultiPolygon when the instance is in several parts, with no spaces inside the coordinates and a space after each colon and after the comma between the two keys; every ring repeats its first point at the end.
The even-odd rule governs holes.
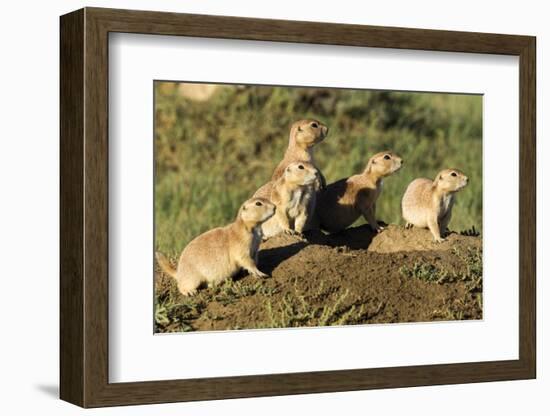
{"type": "Polygon", "coordinates": [[[535,378],[534,37],[60,25],[63,400],[535,378]]]}

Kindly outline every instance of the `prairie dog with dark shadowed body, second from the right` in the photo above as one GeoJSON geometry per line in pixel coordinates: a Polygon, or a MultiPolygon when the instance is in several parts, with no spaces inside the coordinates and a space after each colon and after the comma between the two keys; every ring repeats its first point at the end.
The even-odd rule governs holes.
{"type": "Polygon", "coordinates": [[[393,152],[377,153],[369,159],[363,173],[340,179],[318,195],[317,219],[322,229],[341,231],[361,215],[376,232],[382,227],[376,221],[376,200],[382,192],[382,180],[398,171],[403,159],[393,152]]]}

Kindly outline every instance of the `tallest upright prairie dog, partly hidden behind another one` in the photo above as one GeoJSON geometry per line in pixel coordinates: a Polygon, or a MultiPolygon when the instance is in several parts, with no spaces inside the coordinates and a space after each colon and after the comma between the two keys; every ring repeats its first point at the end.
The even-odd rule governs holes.
{"type": "MultiPolygon", "coordinates": [[[[283,176],[286,167],[292,162],[309,162],[315,166],[313,159],[313,146],[322,142],[328,134],[328,127],[318,120],[306,119],[299,120],[292,124],[288,139],[288,147],[286,149],[283,160],[275,168],[271,180],[275,181],[283,176]]],[[[325,187],[325,178],[319,171],[319,181],[316,183],[316,188],[325,187]]]]}

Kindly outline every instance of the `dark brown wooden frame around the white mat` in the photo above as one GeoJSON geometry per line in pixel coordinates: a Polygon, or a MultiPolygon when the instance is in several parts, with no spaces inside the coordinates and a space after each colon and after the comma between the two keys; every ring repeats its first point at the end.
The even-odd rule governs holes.
{"type": "Polygon", "coordinates": [[[83,406],[535,378],[535,38],[85,8],[61,17],[60,396],[83,406]],[[108,380],[109,32],[516,55],[519,359],[137,383],[108,380]]]}

